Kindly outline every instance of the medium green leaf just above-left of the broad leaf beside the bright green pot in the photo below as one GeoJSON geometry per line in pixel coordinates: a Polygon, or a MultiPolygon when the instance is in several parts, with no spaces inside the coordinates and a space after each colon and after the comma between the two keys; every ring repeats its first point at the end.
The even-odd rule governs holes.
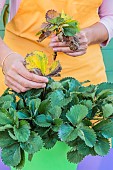
{"type": "Polygon", "coordinates": [[[21,120],[19,127],[14,126],[14,134],[19,142],[26,142],[30,136],[29,123],[25,120],[21,120]]]}

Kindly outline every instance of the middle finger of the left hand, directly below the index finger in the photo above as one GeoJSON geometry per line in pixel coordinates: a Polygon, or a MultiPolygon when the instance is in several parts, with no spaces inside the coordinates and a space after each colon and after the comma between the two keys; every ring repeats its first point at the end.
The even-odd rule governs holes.
{"type": "MultiPolygon", "coordinates": [[[[38,83],[38,82],[30,81],[14,72],[12,72],[12,74],[10,74],[8,76],[13,78],[16,82],[18,82],[22,87],[25,87],[25,88],[44,88],[44,87],[46,87],[45,83],[40,83],[40,82],[38,83]]],[[[7,77],[7,79],[8,79],[8,77],[7,77]]]]}

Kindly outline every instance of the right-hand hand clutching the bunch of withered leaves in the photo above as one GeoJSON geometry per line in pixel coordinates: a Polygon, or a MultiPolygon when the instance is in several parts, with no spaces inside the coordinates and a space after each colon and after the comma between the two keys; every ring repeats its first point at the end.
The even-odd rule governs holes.
{"type": "Polygon", "coordinates": [[[85,32],[83,31],[78,33],[77,37],[79,39],[80,46],[79,49],[76,51],[70,50],[66,42],[60,42],[57,36],[52,37],[50,47],[52,47],[55,52],[63,52],[72,57],[84,55],[88,48],[88,39],[86,37],[85,32]]]}

